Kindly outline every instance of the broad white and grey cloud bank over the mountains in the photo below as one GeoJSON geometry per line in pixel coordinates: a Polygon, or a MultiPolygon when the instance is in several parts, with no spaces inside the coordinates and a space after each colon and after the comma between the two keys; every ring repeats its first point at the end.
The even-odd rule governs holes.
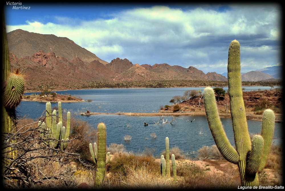
{"type": "Polygon", "coordinates": [[[105,18],[53,19],[56,24],[30,20],[7,26],[7,32],[21,28],[67,37],[107,62],[120,57],[139,64],[194,66],[205,73],[226,72],[229,43],[237,39],[243,69],[251,68],[248,64],[260,68],[261,63],[280,63],[280,11],[274,5],[153,6],[125,9],[105,18]]]}

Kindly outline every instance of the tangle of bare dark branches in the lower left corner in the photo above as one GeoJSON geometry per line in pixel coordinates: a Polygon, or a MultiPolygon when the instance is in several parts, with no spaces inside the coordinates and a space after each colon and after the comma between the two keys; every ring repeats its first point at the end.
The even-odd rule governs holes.
{"type": "Polygon", "coordinates": [[[52,179],[61,180],[68,187],[64,175],[48,175],[42,171],[50,162],[72,159],[82,161],[80,154],[55,149],[48,144],[58,141],[67,142],[52,138],[37,122],[16,126],[11,132],[3,133],[1,165],[4,187],[30,188],[45,181],[53,184],[52,179]]]}

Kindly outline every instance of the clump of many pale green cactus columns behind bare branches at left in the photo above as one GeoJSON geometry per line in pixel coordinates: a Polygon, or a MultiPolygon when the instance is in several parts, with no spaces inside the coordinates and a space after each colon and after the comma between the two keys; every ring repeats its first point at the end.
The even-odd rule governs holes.
{"type": "Polygon", "coordinates": [[[46,123],[39,121],[38,125],[41,128],[41,136],[48,136],[59,141],[48,141],[47,144],[53,144],[54,148],[66,149],[68,146],[70,134],[70,112],[67,112],[66,127],[62,126],[62,108],[61,102],[58,102],[58,123],[56,110],[52,111],[51,103],[46,103],[46,123]],[[60,144],[59,144],[60,143],[60,144]]]}

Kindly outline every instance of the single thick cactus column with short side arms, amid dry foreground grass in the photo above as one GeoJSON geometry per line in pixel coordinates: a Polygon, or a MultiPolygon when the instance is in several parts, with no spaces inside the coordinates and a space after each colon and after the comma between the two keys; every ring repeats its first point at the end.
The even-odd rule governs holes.
{"type": "Polygon", "coordinates": [[[101,188],[103,185],[103,181],[105,178],[106,165],[109,163],[111,159],[110,152],[107,153],[106,159],[106,126],[104,123],[99,123],[97,126],[98,130],[98,146],[94,143],[93,146],[90,143],[89,149],[92,156],[92,159],[95,164],[97,164],[97,172],[95,176],[94,187],[101,188]]]}

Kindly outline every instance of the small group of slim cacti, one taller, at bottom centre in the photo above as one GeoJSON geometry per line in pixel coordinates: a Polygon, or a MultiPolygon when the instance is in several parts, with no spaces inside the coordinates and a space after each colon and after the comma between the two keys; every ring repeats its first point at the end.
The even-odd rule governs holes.
{"type": "MultiPolygon", "coordinates": [[[[165,158],[164,155],[160,157],[160,173],[162,177],[170,178],[170,161],[169,161],[169,138],[165,138],[165,158]]],[[[174,154],[171,155],[171,163],[173,169],[173,179],[176,181],[176,163],[174,154]]]]}

